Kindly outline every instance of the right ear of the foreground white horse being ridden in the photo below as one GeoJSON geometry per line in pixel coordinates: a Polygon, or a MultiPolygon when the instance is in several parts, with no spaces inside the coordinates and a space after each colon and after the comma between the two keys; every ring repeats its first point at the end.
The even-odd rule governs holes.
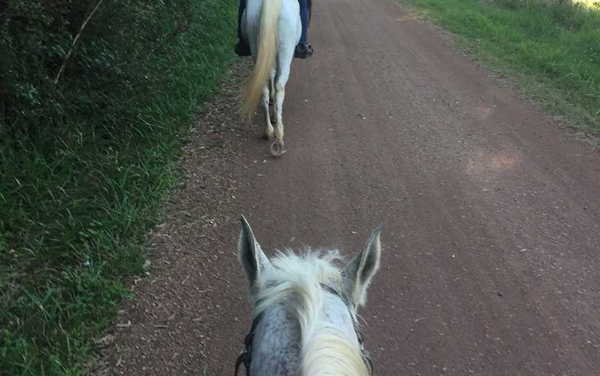
{"type": "Polygon", "coordinates": [[[373,230],[367,239],[365,248],[354,256],[342,271],[344,293],[355,307],[365,305],[367,288],[379,269],[379,259],[381,258],[379,234],[381,234],[382,227],[380,224],[373,230]]]}

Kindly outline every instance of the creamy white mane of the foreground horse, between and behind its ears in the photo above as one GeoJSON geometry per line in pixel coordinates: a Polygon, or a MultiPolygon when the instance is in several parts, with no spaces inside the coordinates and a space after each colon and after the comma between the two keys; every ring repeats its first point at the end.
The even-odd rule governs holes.
{"type": "Polygon", "coordinates": [[[322,321],[323,289],[327,284],[342,291],[342,275],[335,262],[342,261],[337,250],[326,253],[306,249],[301,255],[290,250],[278,253],[272,270],[259,281],[253,318],[285,301],[301,328],[301,375],[366,376],[362,354],[349,335],[322,321]]]}

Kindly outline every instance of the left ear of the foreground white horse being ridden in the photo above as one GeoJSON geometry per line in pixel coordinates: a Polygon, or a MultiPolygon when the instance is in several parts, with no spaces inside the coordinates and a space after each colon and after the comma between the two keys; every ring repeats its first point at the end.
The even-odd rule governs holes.
{"type": "Polygon", "coordinates": [[[256,241],[250,224],[244,216],[242,216],[241,221],[242,231],[238,240],[238,257],[240,257],[240,264],[244,268],[250,290],[253,291],[260,280],[260,274],[266,268],[270,268],[271,263],[263,250],[260,249],[260,244],[256,241]]]}

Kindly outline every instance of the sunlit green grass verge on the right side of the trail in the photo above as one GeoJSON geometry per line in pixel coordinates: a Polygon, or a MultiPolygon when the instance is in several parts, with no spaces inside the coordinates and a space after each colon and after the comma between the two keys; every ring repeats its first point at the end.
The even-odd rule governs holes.
{"type": "Polygon", "coordinates": [[[600,8],[558,0],[400,1],[459,35],[483,65],[517,78],[575,128],[600,135],[600,8]]]}

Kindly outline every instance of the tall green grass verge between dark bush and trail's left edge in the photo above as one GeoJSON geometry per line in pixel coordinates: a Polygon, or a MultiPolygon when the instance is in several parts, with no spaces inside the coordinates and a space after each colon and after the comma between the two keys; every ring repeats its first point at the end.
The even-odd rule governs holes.
{"type": "Polygon", "coordinates": [[[188,127],[235,61],[236,4],[196,3],[189,30],[138,62],[147,83],[115,82],[110,106],[61,119],[68,131],[35,124],[53,142],[0,142],[1,375],[81,374],[143,272],[188,127]]]}

